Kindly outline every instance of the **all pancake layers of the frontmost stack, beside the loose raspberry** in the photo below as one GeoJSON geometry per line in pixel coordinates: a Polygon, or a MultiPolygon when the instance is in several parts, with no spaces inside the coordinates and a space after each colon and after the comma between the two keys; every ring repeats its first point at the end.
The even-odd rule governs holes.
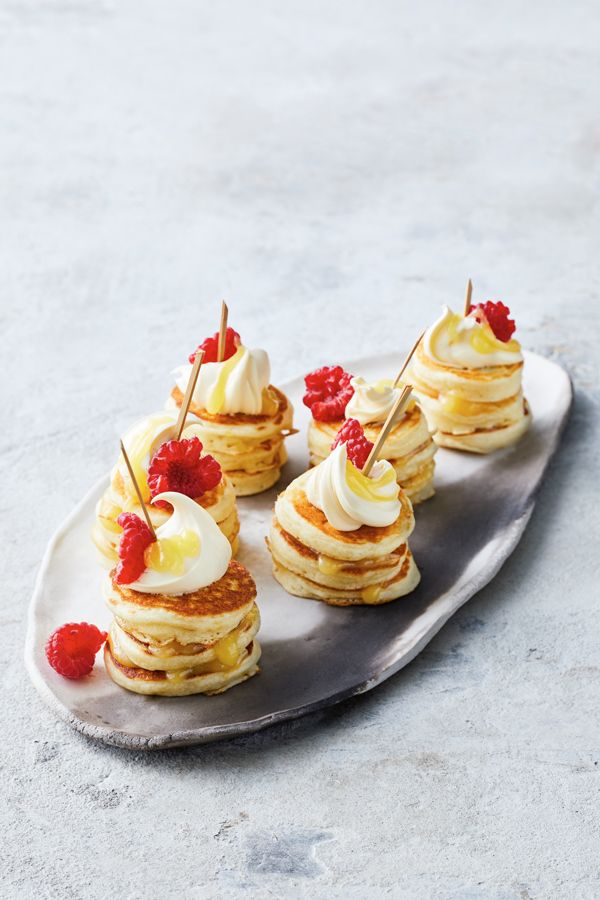
{"type": "Polygon", "coordinates": [[[111,579],[108,674],[137,694],[220,694],[259,671],[256,586],[235,560],[189,594],[148,594],[111,579]]]}

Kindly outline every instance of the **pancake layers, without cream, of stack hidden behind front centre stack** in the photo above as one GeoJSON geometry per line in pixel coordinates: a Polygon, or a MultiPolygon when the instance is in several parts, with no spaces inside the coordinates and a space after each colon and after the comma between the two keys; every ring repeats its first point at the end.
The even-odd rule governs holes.
{"type": "MultiPolygon", "coordinates": [[[[334,422],[311,419],[308,427],[311,465],[318,465],[329,456],[331,445],[342,425],[343,419],[334,422]]],[[[381,427],[379,424],[365,425],[363,430],[366,438],[375,443],[381,427]]],[[[424,413],[417,403],[410,404],[386,438],[380,459],[387,459],[394,467],[398,483],[413,505],[435,493],[433,475],[436,449],[424,413]]]]}

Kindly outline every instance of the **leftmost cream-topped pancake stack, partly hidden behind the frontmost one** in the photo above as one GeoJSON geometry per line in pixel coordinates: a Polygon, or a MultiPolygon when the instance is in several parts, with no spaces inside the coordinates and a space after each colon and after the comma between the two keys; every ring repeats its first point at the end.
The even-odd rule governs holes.
{"type": "MultiPolygon", "coordinates": [[[[189,446],[189,442],[194,438],[198,439],[197,420],[188,414],[187,423],[181,435],[182,440],[177,442],[183,449],[189,446]]],[[[175,426],[176,414],[172,411],[163,411],[136,423],[123,438],[123,443],[134,467],[138,486],[144,502],[147,504],[151,500],[148,469],[155,454],[163,445],[171,441],[175,434],[175,426]]],[[[208,457],[203,456],[200,464],[202,465],[206,459],[208,457]]],[[[184,459],[183,462],[185,463],[185,461],[184,459]]],[[[174,465],[181,466],[182,461],[175,460],[174,465]]],[[[229,540],[235,555],[238,551],[240,530],[235,492],[226,475],[221,473],[220,479],[213,486],[215,480],[212,478],[209,489],[199,492],[193,499],[210,513],[229,540]]],[[[169,511],[165,507],[153,504],[148,506],[148,511],[154,528],[158,528],[169,517],[169,511]]],[[[112,568],[118,561],[117,547],[122,529],[117,519],[123,512],[142,515],[142,508],[131,477],[123,458],[120,457],[112,470],[110,485],[96,505],[96,521],[92,529],[92,539],[99,551],[100,559],[108,568],[112,568]]]]}

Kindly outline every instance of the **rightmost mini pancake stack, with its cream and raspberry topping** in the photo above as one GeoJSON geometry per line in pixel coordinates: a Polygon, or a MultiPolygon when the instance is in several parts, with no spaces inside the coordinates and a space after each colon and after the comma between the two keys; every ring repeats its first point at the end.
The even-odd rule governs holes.
{"type": "Polygon", "coordinates": [[[486,303],[463,317],[446,307],[417,347],[408,380],[442,447],[490,453],[529,427],[523,357],[511,339],[508,312],[503,304],[486,303]]]}

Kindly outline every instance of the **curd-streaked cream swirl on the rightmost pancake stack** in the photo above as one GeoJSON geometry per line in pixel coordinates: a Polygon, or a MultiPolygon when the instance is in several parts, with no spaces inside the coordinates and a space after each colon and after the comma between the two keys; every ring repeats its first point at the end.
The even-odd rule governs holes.
{"type": "Polygon", "coordinates": [[[500,341],[487,322],[453,313],[448,306],[425,333],[423,349],[434,362],[459,369],[506,366],[523,359],[518,341],[500,341]]]}

